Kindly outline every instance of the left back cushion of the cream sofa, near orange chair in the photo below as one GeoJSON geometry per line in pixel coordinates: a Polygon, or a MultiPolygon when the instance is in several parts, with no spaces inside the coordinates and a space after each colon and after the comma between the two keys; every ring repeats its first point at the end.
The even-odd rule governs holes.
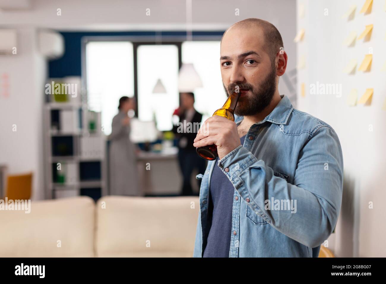
{"type": "Polygon", "coordinates": [[[86,196],[31,201],[30,213],[0,211],[0,257],[93,257],[94,223],[86,196]]]}

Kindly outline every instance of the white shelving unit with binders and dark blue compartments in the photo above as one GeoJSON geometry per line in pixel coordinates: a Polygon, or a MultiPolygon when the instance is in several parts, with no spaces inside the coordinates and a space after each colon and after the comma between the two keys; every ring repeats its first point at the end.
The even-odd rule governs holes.
{"type": "MultiPolygon", "coordinates": [[[[106,139],[98,126],[101,125],[100,114],[93,114],[96,129],[90,132],[89,121],[94,116],[89,113],[86,95],[78,92],[78,96],[80,97],[68,97],[66,102],[52,101],[44,104],[45,185],[48,196],[53,198],[73,195],[88,195],[97,198],[101,196],[102,192],[107,193],[105,185],[106,139]],[[100,143],[102,148],[97,147],[99,151],[96,151],[95,145],[97,144],[88,143],[87,138],[90,138],[91,142],[95,140],[95,143],[100,143]],[[90,155],[84,156],[85,154],[90,155]],[[63,164],[62,169],[66,170],[63,174],[67,182],[56,182],[60,180],[58,179],[57,163],[63,164]]],[[[49,97],[51,98],[52,96],[49,97]]]]}

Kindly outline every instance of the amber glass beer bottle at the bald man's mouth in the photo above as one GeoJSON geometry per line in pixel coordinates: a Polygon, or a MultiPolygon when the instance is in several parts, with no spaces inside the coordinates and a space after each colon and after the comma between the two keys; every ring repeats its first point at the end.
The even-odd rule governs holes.
{"type": "MultiPolygon", "coordinates": [[[[234,111],[239,97],[239,92],[232,92],[232,94],[225,101],[225,104],[222,106],[222,108],[215,111],[213,116],[223,116],[231,121],[235,121],[234,111]]],[[[205,131],[205,129],[203,130],[205,131]]],[[[205,160],[213,161],[218,157],[217,146],[214,144],[196,148],[196,152],[201,158],[204,158],[205,160]]]]}

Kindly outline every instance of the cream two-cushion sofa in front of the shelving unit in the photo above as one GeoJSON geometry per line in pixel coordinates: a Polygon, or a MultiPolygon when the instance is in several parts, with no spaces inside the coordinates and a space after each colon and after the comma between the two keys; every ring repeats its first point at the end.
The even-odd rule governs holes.
{"type": "Polygon", "coordinates": [[[0,211],[0,257],[192,257],[198,197],[86,196],[0,211]]]}

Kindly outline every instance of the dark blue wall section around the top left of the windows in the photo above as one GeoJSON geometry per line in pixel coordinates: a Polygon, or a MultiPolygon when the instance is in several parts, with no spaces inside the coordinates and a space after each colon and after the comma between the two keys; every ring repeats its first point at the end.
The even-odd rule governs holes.
{"type": "MultiPolygon", "coordinates": [[[[222,36],[224,32],[193,32],[195,36],[222,36]]],[[[65,76],[81,76],[81,38],[83,36],[143,36],[144,38],[156,38],[156,32],[61,32],[64,37],[63,57],[49,61],[49,78],[61,78],[65,76]]],[[[164,31],[157,36],[186,36],[186,32],[164,31]]]]}

